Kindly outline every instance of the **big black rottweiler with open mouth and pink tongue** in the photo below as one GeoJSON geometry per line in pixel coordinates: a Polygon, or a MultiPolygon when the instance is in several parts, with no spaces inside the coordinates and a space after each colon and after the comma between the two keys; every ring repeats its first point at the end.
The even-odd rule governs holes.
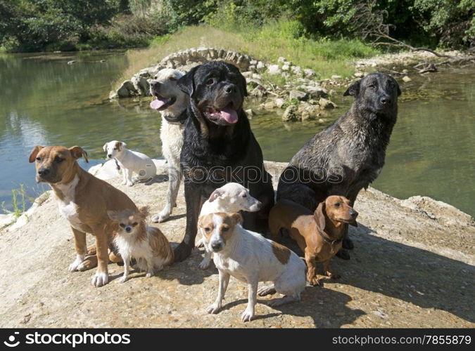
{"type": "Polygon", "coordinates": [[[272,178],[262,163],[262,151],[243,111],[246,79],[223,61],[191,69],[178,81],[190,96],[180,157],[184,174],[186,232],[175,249],[175,260],[189,256],[195,244],[201,205],[222,185],[247,187],[262,202],[258,212],[243,213],[243,227],[263,232],[274,205],[272,178]]]}

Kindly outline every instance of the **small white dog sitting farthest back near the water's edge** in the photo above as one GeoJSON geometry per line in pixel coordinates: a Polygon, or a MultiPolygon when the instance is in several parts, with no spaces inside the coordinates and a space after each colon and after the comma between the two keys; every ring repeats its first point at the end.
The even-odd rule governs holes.
{"type": "Polygon", "coordinates": [[[152,159],[141,152],[127,150],[126,146],[126,143],[118,140],[112,140],[103,146],[103,150],[107,152],[107,157],[115,159],[122,167],[124,178],[122,185],[127,184],[132,187],[138,181],[146,181],[155,177],[157,168],[152,159]],[[132,178],[132,173],[137,173],[137,175],[132,178]]]}

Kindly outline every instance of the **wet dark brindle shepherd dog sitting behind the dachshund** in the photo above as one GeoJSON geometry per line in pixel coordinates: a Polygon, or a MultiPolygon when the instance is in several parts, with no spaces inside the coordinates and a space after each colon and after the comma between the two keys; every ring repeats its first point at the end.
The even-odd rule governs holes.
{"type": "MultiPolygon", "coordinates": [[[[329,195],[342,195],[353,206],[358,192],[384,166],[400,93],[395,79],[384,73],[368,74],[352,84],[343,94],[355,98],[350,110],[291,159],[280,176],[277,199],[289,199],[315,211],[329,195]]],[[[353,249],[353,244],[347,238],[343,247],[353,249]]],[[[338,256],[350,258],[344,250],[338,256]]]]}

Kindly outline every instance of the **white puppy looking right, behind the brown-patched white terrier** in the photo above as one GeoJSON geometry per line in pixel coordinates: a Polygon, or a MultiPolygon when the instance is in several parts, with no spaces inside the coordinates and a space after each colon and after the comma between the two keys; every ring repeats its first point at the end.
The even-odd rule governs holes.
{"type": "MultiPolygon", "coordinates": [[[[249,190],[239,183],[227,183],[217,188],[208,200],[201,207],[200,217],[209,213],[224,212],[233,213],[239,211],[257,212],[262,204],[257,199],[251,197],[249,190]]],[[[205,246],[205,257],[199,267],[205,270],[210,266],[213,258],[213,251],[208,247],[208,241],[203,238],[196,244],[197,247],[205,246]]]]}

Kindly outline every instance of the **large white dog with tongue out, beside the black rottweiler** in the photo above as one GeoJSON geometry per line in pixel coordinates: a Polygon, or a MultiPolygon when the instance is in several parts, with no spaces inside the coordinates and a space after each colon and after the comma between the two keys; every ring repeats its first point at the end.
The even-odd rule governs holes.
{"type": "Polygon", "coordinates": [[[170,218],[172,208],[177,206],[178,189],[183,178],[179,155],[182,152],[183,128],[189,97],[177,86],[177,80],[182,76],[183,73],[176,69],[164,68],[150,81],[150,93],[153,96],[150,107],[162,114],[160,140],[163,157],[168,164],[167,202],[163,210],[152,217],[156,223],[170,218]]]}

